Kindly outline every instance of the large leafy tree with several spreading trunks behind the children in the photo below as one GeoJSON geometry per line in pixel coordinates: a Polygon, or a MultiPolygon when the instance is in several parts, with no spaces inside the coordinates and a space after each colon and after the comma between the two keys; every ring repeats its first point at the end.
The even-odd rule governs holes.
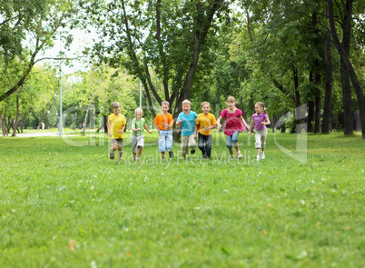
{"type": "Polygon", "coordinates": [[[197,73],[209,73],[212,58],[209,48],[217,21],[222,20],[227,6],[223,0],[211,1],[120,1],[106,3],[106,10],[88,4],[105,41],[94,47],[96,55],[110,65],[123,65],[129,74],[138,77],[144,87],[149,108],[153,99],[175,103],[174,117],[181,112],[181,103],[190,98],[197,73]],[[107,17],[104,17],[104,14],[107,17]],[[152,74],[162,81],[154,84],[152,74]]]}

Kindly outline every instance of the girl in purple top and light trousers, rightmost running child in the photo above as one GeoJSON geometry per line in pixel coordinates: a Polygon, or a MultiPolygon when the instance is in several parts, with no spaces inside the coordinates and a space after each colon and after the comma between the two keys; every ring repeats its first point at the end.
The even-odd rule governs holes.
{"type": "Polygon", "coordinates": [[[260,149],[261,159],[265,159],[265,145],[268,130],[266,124],[271,124],[268,114],[266,113],[265,105],[262,103],[255,104],[256,114],[252,114],[252,123],[249,131],[249,135],[252,132],[253,125],[255,126],[253,133],[255,134],[255,148],[256,148],[256,160],[260,161],[260,149]]]}

